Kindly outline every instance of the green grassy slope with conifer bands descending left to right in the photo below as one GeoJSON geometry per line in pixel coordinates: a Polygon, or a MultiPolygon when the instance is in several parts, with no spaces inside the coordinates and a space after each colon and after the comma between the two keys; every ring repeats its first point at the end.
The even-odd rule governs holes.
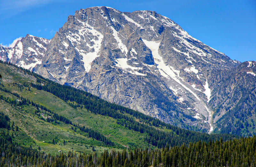
{"type": "Polygon", "coordinates": [[[0,111],[20,128],[12,131],[14,139],[45,152],[156,148],[234,137],[180,129],[10,64],[0,62],[0,74],[0,111]]]}

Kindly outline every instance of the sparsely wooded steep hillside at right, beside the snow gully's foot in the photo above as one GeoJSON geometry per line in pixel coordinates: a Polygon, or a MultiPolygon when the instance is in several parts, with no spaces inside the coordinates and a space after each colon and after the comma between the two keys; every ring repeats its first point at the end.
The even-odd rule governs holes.
{"type": "Polygon", "coordinates": [[[215,132],[255,134],[256,62],[243,62],[230,70],[212,71],[208,79],[213,90],[210,106],[214,109],[215,132]]]}

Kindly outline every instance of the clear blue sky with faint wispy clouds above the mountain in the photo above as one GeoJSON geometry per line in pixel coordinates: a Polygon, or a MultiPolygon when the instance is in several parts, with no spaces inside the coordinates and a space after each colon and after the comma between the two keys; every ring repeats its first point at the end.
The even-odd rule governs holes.
{"type": "Polygon", "coordinates": [[[0,43],[9,45],[26,34],[51,39],[68,15],[92,6],[156,11],[231,59],[256,61],[255,0],[0,0],[0,43]]]}

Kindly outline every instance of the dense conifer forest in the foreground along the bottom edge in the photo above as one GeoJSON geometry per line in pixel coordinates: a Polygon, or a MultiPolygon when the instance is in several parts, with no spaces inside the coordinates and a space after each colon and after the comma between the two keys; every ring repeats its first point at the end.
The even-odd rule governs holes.
{"type": "Polygon", "coordinates": [[[255,166],[256,137],[223,142],[194,142],[188,146],[128,151],[104,150],[101,154],[51,155],[18,145],[12,137],[0,132],[0,166],[37,167],[167,167],[167,166],[255,166]]]}

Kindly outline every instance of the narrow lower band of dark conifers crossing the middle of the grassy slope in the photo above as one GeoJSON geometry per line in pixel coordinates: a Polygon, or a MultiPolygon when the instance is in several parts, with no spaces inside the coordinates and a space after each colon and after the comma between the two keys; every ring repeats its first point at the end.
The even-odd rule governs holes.
{"type": "MultiPolygon", "coordinates": [[[[96,132],[93,129],[89,129],[89,128],[86,128],[84,126],[80,126],[78,124],[73,124],[71,122],[71,120],[69,120],[68,118],[66,118],[64,116],[61,116],[61,115],[51,111],[50,109],[46,108],[43,105],[36,104],[32,100],[29,100],[27,98],[23,98],[22,96],[20,96],[17,93],[13,93],[13,92],[11,92],[11,91],[9,91],[9,90],[7,90],[5,88],[2,88],[2,87],[0,87],[0,90],[4,91],[4,92],[7,92],[7,93],[10,93],[10,94],[12,94],[12,95],[14,95],[14,96],[16,96],[17,98],[20,99],[20,100],[16,100],[16,99],[12,99],[12,98],[9,98],[9,97],[6,98],[3,95],[0,95],[0,99],[4,100],[5,102],[11,104],[14,107],[22,108],[23,105],[33,105],[33,106],[35,106],[37,108],[37,110],[35,110],[36,114],[41,113],[43,110],[45,112],[47,112],[47,118],[44,119],[44,118],[41,117],[42,120],[47,121],[47,122],[53,122],[53,121],[56,122],[56,120],[62,121],[64,123],[66,123],[66,124],[70,124],[70,125],[73,125],[74,127],[79,128],[82,132],[88,133],[88,137],[92,137],[92,138],[94,138],[96,140],[99,140],[99,141],[103,142],[107,146],[115,146],[114,142],[111,142],[110,139],[105,137],[100,132],[96,132]],[[51,118],[48,117],[49,115],[51,116],[51,118]]],[[[1,112],[0,112],[0,114],[1,114],[1,112]]],[[[120,147],[120,145],[118,145],[116,147],[120,147]]]]}

